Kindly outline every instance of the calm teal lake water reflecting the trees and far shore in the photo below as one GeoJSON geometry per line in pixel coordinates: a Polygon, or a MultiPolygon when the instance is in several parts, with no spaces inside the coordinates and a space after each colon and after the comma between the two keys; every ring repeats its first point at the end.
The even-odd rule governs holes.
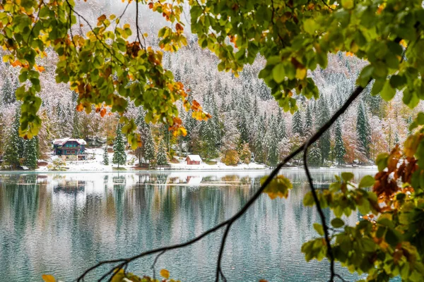
{"type": "MultiPolygon", "coordinates": [[[[345,170],[346,171],[346,170],[345,170]]],[[[312,171],[329,183],[341,171],[312,171]]],[[[54,274],[73,281],[104,259],[182,243],[235,214],[268,171],[163,173],[0,174],[0,281],[41,281],[54,274]]],[[[308,191],[302,170],[283,170],[293,181],[288,199],[262,195],[231,229],[223,271],[228,281],[325,281],[326,262],[305,262],[300,246],[317,236],[315,209],[302,205],[308,191]]],[[[355,180],[372,170],[355,170],[355,180]]],[[[329,216],[329,211],[326,211],[329,216]]],[[[355,224],[359,214],[346,221],[355,224]]],[[[182,281],[213,281],[220,235],[165,253],[166,268],[182,281]]],[[[130,264],[153,275],[154,257],[130,264]]],[[[108,268],[101,269],[105,271],[108,268]]],[[[86,281],[99,278],[101,271],[86,281]]],[[[358,278],[338,270],[346,280],[358,278]]],[[[158,274],[156,274],[158,275],[158,274]]]]}

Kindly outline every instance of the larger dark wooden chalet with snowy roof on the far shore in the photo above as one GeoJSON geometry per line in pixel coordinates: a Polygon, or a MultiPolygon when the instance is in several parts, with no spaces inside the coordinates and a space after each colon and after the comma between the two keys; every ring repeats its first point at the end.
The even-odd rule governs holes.
{"type": "Polygon", "coordinates": [[[56,139],[53,140],[54,154],[61,156],[62,159],[75,159],[81,161],[86,159],[87,142],[83,139],[56,139]]]}

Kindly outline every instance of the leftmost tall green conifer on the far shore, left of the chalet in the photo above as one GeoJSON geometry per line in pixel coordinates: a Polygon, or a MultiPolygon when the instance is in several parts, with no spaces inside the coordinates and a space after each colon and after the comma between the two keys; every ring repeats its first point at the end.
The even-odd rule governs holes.
{"type": "Polygon", "coordinates": [[[4,160],[13,168],[19,166],[19,159],[23,154],[23,138],[19,136],[19,110],[16,109],[11,128],[6,136],[4,160]]]}

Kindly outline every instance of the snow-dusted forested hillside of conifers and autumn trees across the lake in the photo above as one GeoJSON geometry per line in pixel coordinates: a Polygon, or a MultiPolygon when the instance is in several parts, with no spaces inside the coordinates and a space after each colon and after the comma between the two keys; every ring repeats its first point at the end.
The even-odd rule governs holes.
{"type": "MultiPolygon", "coordinates": [[[[91,19],[114,8],[98,1],[78,5],[83,13],[90,13],[91,19]]],[[[126,16],[132,18],[131,11],[126,16]]],[[[155,18],[143,19],[143,27],[149,30],[148,44],[153,48],[157,48],[155,34],[161,24],[155,18]]],[[[84,28],[76,32],[83,34],[84,28]]],[[[293,92],[294,97],[298,97],[299,110],[291,114],[278,106],[269,88],[257,78],[264,61],[259,59],[247,66],[239,77],[220,73],[216,56],[202,50],[196,42],[195,36],[188,35],[187,47],[177,54],[165,52],[164,66],[187,87],[189,99],[198,101],[212,118],[196,121],[192,112],[186,113],[180,105],[187,136],[173,137],[167,126],[146,124],[143,109],[131,104],[126,115],[135,118],[139,126],[143,147],[135,153],[143,159],[154,160],[162,141],[171,158],[192,152],[204,159],[219,158],[228,164],[254,160],[275,166],[338,109],[353,90],[358,72],[365,65],[348,54],[331,56],[325,71],[308,73],[319,87],[320,98],[308,101],[293,92]]],[[[39,157],[46,157],[51,141],[59,137],[83,138],[91,146],[106,141],[112,144],[119,116],[94,110],[90,114],[77,111],[76,93],[71,92],[68,85],[58,85],[55,81],[54,52],[47,51],[47,57],[40,60],[40,66],[45,68],[40,75],[42,130],[36,144],[31,145],[18,137],[19,104],[14,97],[18,69],[7,63],[0,64],[0,154],[4,154],[4,159],[10,161],[15,152],[19,152],[17,157],[28,159],[24,155],[30,152],[24,149],[28,146],[38,147],[39,157]]],[[[401,144],[408,133],[406,125],[413,119],[413,112],[401,99],[398,94],[390,102],[384,102],[379,96],[371,96],[370,90],[365,91],[336,126],[310,149],[310,164],[368,164],[379,152],[401,144]]],[[[421,108],[420,105],[414,111],[421,108]]]]}

